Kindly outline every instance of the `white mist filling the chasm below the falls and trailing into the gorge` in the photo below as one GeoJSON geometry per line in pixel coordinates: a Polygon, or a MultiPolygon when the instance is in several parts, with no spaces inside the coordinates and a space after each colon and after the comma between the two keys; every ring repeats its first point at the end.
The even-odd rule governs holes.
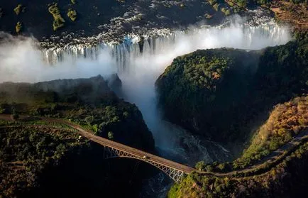
{"type": "MultiPolygon", "coordinates": [[[[32,38],[4,42],[0,45],[0,82],[39,82],[60,78],[108,76],[119,73],[123,82],[125,99],[137,104],[143,113],[145,122],[153,131],[156,144],[163,148],[178,147],[176,133],[161,119],[156,109],[154,83],[167,65],[178,55],[191,53],[197,49],[242,48],[258,50],[267,46],[281,45],[290,40],[286,28],[277,26],[247,27],[243,22],[233,23],[225,28],[207,28],[192,30],[188,33],[175,33],[174,40],[168,38],[156,40],[155,51],[147,42],[144,53],[129,54],[126,68],[119,70],[116,57],[111,48],[101,49],[97,60],[87,58],[65,58],[62,62],[49,65],[43,61],[40,50],[35,47],[32,38]]],[[[138,48],[138,45],[133,45],[138,48]]],[[[133,47],[134,48],[134,47],[133,47]]],[[[138,51],[138,50],[135,50],[138,51]]],[[[179,135],[180,136],[180,135],[179,135]]]]}

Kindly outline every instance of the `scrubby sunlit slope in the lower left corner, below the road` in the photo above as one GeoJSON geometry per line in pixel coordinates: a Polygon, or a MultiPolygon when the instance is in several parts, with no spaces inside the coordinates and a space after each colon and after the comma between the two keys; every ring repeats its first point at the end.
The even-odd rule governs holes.
{"type": "MultiPolygon", "coordinates": [[[[17,126],[0,121],[0,196],[21,197],[38,187],[38,175],[48,166],[88,146],[68,128],[17,126]]],[[[11,123],[13,124],[13,123],[11,123]]],[[[56,127],[56,126],[54,126],[56,127]]]]}

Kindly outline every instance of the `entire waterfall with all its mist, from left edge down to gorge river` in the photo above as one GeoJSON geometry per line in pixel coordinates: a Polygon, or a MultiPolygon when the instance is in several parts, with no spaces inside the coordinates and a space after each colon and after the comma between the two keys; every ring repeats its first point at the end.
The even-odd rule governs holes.
{"type": "MultiPolygon", "coordinates": [[[[141,110],[156,145],[165,150],[161,155],[179,155],[178,161],[194,165],[198,160],[213,160],[207,145],[163,121],[156,105],[155,80],[178,55],[222,47],[258,50],[285,44],[290,35],[286,28],[272,23],[253,27],[240,20],[229,26],[191,28],[165,36],[128,36],[120,45],[69,45],[40,50],[33,39],[8,39],[13,42],[0,46],[0,82],[40,82],[99,74],[109,77],[116,72],[123,82],[121,97],[141,110]],[[183,150],[183,143],[197,148],[199,153],[196,149],[194,155],[183,150]]],[[[226,154],[223,149],[217,152],[226,154]]]]}

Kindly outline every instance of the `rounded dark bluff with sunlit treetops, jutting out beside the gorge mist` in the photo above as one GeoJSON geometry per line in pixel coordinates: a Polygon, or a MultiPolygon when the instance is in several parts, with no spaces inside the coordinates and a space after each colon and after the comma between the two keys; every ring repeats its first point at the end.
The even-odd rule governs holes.
{"type": "Polygon", "coordinates": [[[195,133],[224,140],[248,94],[258,54],[244,50],[197,50],[177,57],[156,85],[167,119],[195,133]]]}

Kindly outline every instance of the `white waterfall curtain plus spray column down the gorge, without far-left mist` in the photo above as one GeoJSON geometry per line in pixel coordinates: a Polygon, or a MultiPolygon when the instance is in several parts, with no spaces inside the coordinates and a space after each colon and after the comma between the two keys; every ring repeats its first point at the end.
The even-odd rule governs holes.
{"type": "MultiPolygon", "coordinates": [[[[128,35],[120,45],[105,43],[95,46],[69,45],[65,48],[42,50],[42,54],[45,61],[57,64],[57,62],[67,61],[79,62],[80,59],[95,62],[102,53],[107,51],[114,60],[116,71],[123,81],[124,99],[136,103],[141,109],[158,147],[169,152],[172,150],[173,156],[177,150],[177,153],[182,156],[182,159],[178,160],[193,165],[197,160],[212,159],[207,152],[201,151],[199,158],[188,158],[187,156],[191,156],[191,153],[187,153],[187,156],[183,155],[185,152],[180,147],[183,142],[175,137],[182,137],[185,132],[171,130],[170,123],[162,121],[156,109],[154,84],[158,76],[173,58],[197,49],[226,47],[258,50],[284,44],[288,40],[290,36],[287,29],[277,26],[273,21],[259,26],[250,26],[248,23],[237,20],[221,26],[190,28],[187,31],[157,37],[128,35]]],[[[185,136],[185,140],[187,138],[185,136]]]]}

